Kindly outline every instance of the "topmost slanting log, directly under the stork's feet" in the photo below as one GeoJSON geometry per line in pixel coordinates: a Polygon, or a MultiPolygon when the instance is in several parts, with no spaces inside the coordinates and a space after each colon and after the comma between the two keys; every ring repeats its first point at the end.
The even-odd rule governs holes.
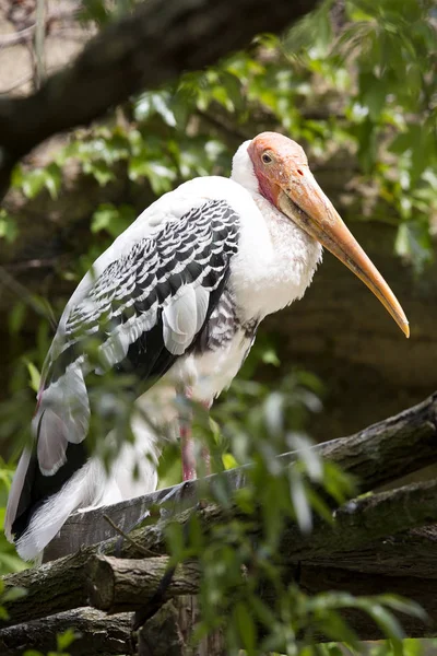
{"type": "MultiPolygon", "coordinates": [[[[397,417],[379,422],[350,437],[333,440],[318,445],[316,450],[324,458],[336,462],[344,471],[352,473],[361,492],[374,490],[378,485],[414,472],[437,461],[437,394],[422,403],[404,410],[397,417]]],[[[295,454],[282,456],[284,464],[293,462],[295,454]]],[[[211,477],[210,491],[214,494],[215,484],[223,480],[232,488],[245,484],[245,468],[227,471],[220,477],[211,477]]],[[[143,497],[125,501],[105,509],[105,514],[122,530],[129,530],[151,506],[163,504],[172,511],[192,506],[204,494],[199,491],[201,481],[191,481],[168,490],[158,490],[143,497]]],[[[206,492],[208,493],[208,492],[206,492]]],[[[75,513],[59,536],[45,551],[45,560],[54,560],[76,551],[82,544],[101,542],[116,535],[102,516],[102,509],[75,513]]]]}

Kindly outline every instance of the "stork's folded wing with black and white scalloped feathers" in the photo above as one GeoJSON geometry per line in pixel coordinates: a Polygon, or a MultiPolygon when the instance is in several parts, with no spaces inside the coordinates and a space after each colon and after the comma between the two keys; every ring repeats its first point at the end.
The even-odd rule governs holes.
{"type": "Polygon", "coordinates": [[[209,200],[128,248],[125,239],[122,255],[94,279],[88,274],[74,302],[78,289],[44,368],[35,449],[23,454],[9,499],[10,535],[20,537],[35,507],[87,459],[86,375],[131,371],[151,384],[163,376],[196,344],[216,307],[238,237],[238,214],[225,200],[209,200]]]}

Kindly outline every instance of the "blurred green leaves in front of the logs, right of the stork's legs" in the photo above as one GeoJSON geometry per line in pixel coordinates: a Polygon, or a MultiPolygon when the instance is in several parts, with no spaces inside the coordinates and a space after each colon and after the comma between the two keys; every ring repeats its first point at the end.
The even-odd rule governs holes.
{"type": "MultiPolygon", "coordinates": [[[[312,656],[322,653],[317,643],[323,634],[359,653],[358,637],[341,614],[353,608],[375,621],[397,654],[406,654],[393,611],[425,618],[417,605],[389,594],[354,597],[331,590],[310,596],[299,587],[298,564],[291,567],[282,555],[290,524],[308,535],[314,524],[331,523],[332,508],[354,494],[351,478],[322,460],[305,433],[308,415],[320,407],[318,390],[319,382],[304,372],[287,376],[274,391],[237,380],[211,413],[197,409],[199,455],[203,441],[222,462],[225,453],[235,464],[251,467],[244,488],[232,491],[218,478],[211,492],[222,508],[234,508],[232,516],[215,518],[205,530],[193,513],[189,531],[179,523],[168,529],[174,562],[196,559],[202,571],[194,641],[222,630],[229,655],[238,655],[243,646],[248,656],[312,656]],[[290,450],[297,460],[284,468],[279,456],[290,450]]],[[[208,492],[200,494],[204,499],[208,492]]],[[[334,651],[334,645],[327,647],[334,651]]]]}

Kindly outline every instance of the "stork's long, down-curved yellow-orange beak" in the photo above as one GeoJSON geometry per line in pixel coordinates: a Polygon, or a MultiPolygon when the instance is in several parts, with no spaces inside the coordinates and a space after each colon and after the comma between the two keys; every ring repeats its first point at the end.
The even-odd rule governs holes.
{"type": "Polygon", "coordinates": [[[281,185],[276,200],[280,210],[328,248],[362,280],[391,314],[405,337],[410,327],[405,313],[377,268],[343,223],[308,166],[281,185]]]}

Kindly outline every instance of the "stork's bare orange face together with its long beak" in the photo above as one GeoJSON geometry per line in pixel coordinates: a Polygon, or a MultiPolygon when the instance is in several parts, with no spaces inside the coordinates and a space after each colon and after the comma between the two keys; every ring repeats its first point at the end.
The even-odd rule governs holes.
{"type": "Polygon", "coordinates": [[[260,194],[351,269],[410,337],[400,303],[317,184],[300,145],[276,132],[262,132],[248,153],[260,194]]]}

